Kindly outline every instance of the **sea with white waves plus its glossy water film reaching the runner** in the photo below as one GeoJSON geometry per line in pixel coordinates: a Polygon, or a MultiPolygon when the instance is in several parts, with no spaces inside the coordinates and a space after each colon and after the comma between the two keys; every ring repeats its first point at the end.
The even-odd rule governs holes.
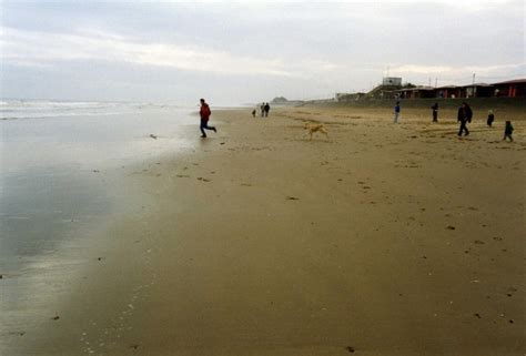
{"type": "MultiPolygon", "coordinates": [[[[94,238],[94,227],[115,210],[119,181],[134,165],[195,148],[198,111],[158,103],[0,101],[0,336],[30,323],[24,318],[36,315],[31,308],[53,296],[53,271],[74,265],[71,248],[94,238]]],[[[4,339],[0,354],[9,349],[4,339]]]]}

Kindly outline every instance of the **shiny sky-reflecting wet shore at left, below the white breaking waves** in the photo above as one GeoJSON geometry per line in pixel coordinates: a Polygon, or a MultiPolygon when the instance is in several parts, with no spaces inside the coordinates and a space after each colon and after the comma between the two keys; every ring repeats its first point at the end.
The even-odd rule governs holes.
{"type": "Polygon", "coordinates": [[[49,319],[93,241],[127,212],[127,167],[192,148],[189,113],[179,114],[0,122],[0,354],[17,355],[49,319]]]}

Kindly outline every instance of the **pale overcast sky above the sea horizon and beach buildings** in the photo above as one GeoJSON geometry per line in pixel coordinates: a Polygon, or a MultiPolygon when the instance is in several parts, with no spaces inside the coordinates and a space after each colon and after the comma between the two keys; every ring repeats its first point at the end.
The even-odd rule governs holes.
{"type": "Polygon", "coordinates": [[[0,0],[0,96],[215,105],[526,78],[525,1],[0,0]]]}

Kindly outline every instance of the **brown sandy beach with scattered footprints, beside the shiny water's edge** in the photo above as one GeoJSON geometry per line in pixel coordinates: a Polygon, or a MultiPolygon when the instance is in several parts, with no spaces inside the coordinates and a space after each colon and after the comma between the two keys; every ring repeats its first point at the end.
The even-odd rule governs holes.
{"type": "Polygon", "coordinates": [[[526,352],[523,110],[462,139],[454,109],[212,110],[195,149],[123,170],[127,212],[6,355],[526,352]]]}

